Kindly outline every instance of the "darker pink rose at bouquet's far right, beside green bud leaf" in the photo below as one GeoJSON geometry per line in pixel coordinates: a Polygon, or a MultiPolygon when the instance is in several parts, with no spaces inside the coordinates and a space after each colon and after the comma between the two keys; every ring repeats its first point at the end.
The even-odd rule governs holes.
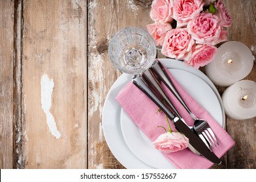
{"type": "Polygon", "coordinates": [[[219,0],[216,3],[216,16],[221,19],[220,25],[223,27],[231,27],[232,18],[222,0],[219,0]]]}

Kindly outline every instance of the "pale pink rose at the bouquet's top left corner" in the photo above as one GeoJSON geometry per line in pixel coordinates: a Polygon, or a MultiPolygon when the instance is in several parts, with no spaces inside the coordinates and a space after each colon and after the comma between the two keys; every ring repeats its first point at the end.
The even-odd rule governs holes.
{"type": "Polygon", "coordinates": [[[173,20],[172,3],[173,0],[154,0],[150,11],[150,17],[153,21],[159,23],[171,22],[173,20]]]}

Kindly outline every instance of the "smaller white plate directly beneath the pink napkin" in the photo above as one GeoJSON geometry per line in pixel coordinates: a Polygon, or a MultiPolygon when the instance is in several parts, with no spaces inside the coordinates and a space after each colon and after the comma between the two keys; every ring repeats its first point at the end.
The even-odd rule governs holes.
{"type": "MultiPolygon", "coordinates": [[[[169,71],[197,103],[204,107],[221,125],[223,121],[221,104],[212,88],[193,73],[175,69],[169,69],[169,71]]],[[[152,142],[123,109],[121,109],[120,120],[123,138],[138,159],[153,168],[175,168],[161,152],[153,147],[152,142]]]]}

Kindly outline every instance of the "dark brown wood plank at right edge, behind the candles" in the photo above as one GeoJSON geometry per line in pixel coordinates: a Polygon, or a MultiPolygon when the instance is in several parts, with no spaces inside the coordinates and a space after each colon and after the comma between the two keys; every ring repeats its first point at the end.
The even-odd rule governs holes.
{"type": "MultiPolygon", "coordinates": [[[[256,55],[256,1],[225,1],[225,4],[233,19],[229,40],[246,44],[256,55]]],[[[256,64],[245,79],[256,81],[256,64]]],[[[227,117],[227,132],[236,142],[227,153],[227,168],[256,168],[256,117],[241,121],[227,117]]]]}

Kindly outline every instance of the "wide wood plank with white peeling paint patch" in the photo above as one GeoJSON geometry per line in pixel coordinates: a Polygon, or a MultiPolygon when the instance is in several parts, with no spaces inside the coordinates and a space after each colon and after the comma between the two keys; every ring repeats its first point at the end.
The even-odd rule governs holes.
{"type": "Polygon", "coordinates": [[[86,1],[24,1],[23,168],[87,168],[86,1]]]}

